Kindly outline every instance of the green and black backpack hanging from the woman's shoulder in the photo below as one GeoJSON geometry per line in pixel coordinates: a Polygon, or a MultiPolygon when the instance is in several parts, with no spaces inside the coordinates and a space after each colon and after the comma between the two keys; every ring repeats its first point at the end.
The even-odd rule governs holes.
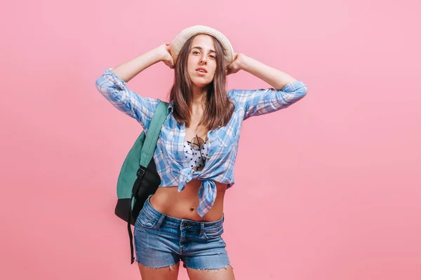
{"type": "Polygon", "coordinates": [[[135,258],[131,225],[135,225],[147,197],[154,194],[161,183],[161,178],[156,172],[153,155],[159,132],[161,132],[161,127],[167,116],[168,103],[160,101],[149,124],[147,134],[143,131],[136,139],[123,162],[117,181],[118,200],[114,213],[127,222],[132,264],[135,258]]]}

